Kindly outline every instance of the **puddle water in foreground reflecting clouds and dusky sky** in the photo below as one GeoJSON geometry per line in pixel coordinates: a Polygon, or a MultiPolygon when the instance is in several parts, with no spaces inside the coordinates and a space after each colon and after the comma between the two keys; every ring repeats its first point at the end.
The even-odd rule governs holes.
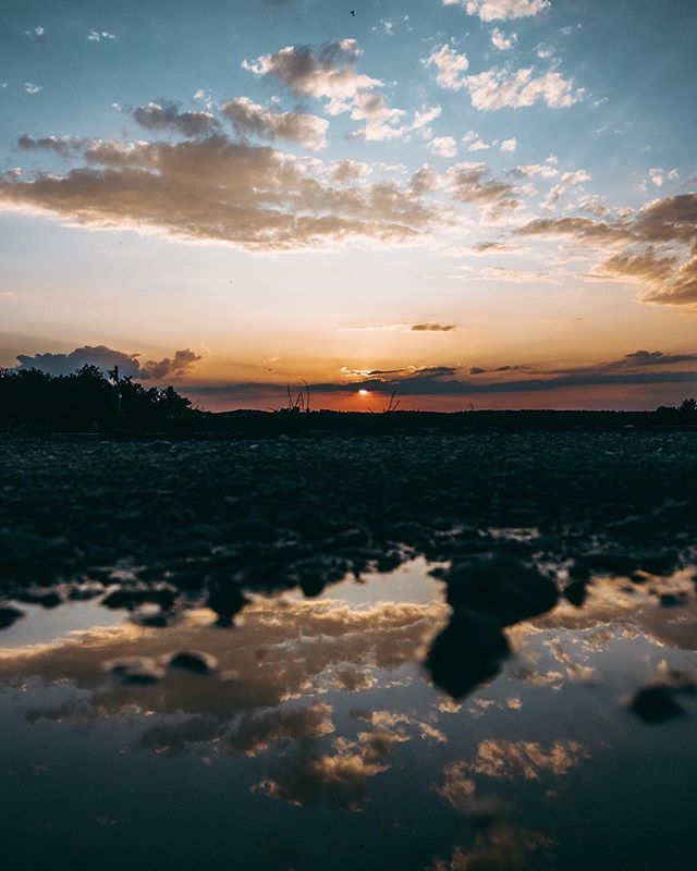
{"type": "Polygon", "coordinates": [[[597,580],[583,609],[509,627],[514,655],[454,701],[423,665],[449,617],[426,572],[255,598],[233,629],[32,609],[0,636],[3,867],[694,867],[694,699],[659,726],[625,708],[694,678],[692,579],[668,581],[678,609],[597,580]],[[103,668],[183,649],[215,673],[103,668]]]}

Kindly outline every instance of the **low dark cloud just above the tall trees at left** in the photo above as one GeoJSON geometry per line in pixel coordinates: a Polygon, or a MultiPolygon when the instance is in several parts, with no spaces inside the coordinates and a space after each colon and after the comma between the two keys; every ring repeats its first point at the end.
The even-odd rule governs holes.
{"type": "Polygon", "coordinates": [[[189,349],[178,351],[173,357],[147,360],[143,364],[138,360],[139,356],[139,354],[124,354],[106,345],[94,347],[85,345],[69,354],[17,354],[17,360],[20,369],[35,368],[50,375],[70,375],[83,366],[98,366],[106,375],[109,369],[118,366],[123,377],[161,380],[171,376],[186,375],[195,363],[203,359],[189,349]]]}

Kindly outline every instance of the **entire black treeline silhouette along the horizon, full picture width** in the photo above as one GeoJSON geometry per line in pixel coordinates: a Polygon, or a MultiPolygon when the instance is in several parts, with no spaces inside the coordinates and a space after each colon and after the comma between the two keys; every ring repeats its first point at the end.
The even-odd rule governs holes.
{"type": "Polygon", "coordinates": [[[278,436],[436,434],[472,431],[613,430],[697,426],[697,401],[655,412],[466,410],[418,412],[396,408],[394,394],[382,413],[310,410],[309,398],[277,412],[212,414],[194,408],[174,388],[144,388],[114,368],[97,366],[71,375],[40,369],[0,369],[0,432],[164,433],[222,438],[278,436]]]}

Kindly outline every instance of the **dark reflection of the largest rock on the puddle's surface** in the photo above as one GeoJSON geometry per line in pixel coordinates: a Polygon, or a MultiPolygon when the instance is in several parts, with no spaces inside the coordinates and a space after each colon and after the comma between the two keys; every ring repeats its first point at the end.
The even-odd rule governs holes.
{"type": "Polygon", "coordinates": [[[478,614],[454,613],[426,658],[431,679],[461,699],[501,670],[511,649],[500,626],[478,614]]]}

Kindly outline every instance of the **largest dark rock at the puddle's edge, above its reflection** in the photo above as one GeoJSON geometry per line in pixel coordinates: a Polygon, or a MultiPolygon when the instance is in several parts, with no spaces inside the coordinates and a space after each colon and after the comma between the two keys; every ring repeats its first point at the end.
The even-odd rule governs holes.
{"type": "Polygon", "coordinates": [[[543,614],[558,599],[553,580],[510,554],[477,554],[448,574],[448,602],[455,612],[475,611],[501,626],[543,614]]]}

